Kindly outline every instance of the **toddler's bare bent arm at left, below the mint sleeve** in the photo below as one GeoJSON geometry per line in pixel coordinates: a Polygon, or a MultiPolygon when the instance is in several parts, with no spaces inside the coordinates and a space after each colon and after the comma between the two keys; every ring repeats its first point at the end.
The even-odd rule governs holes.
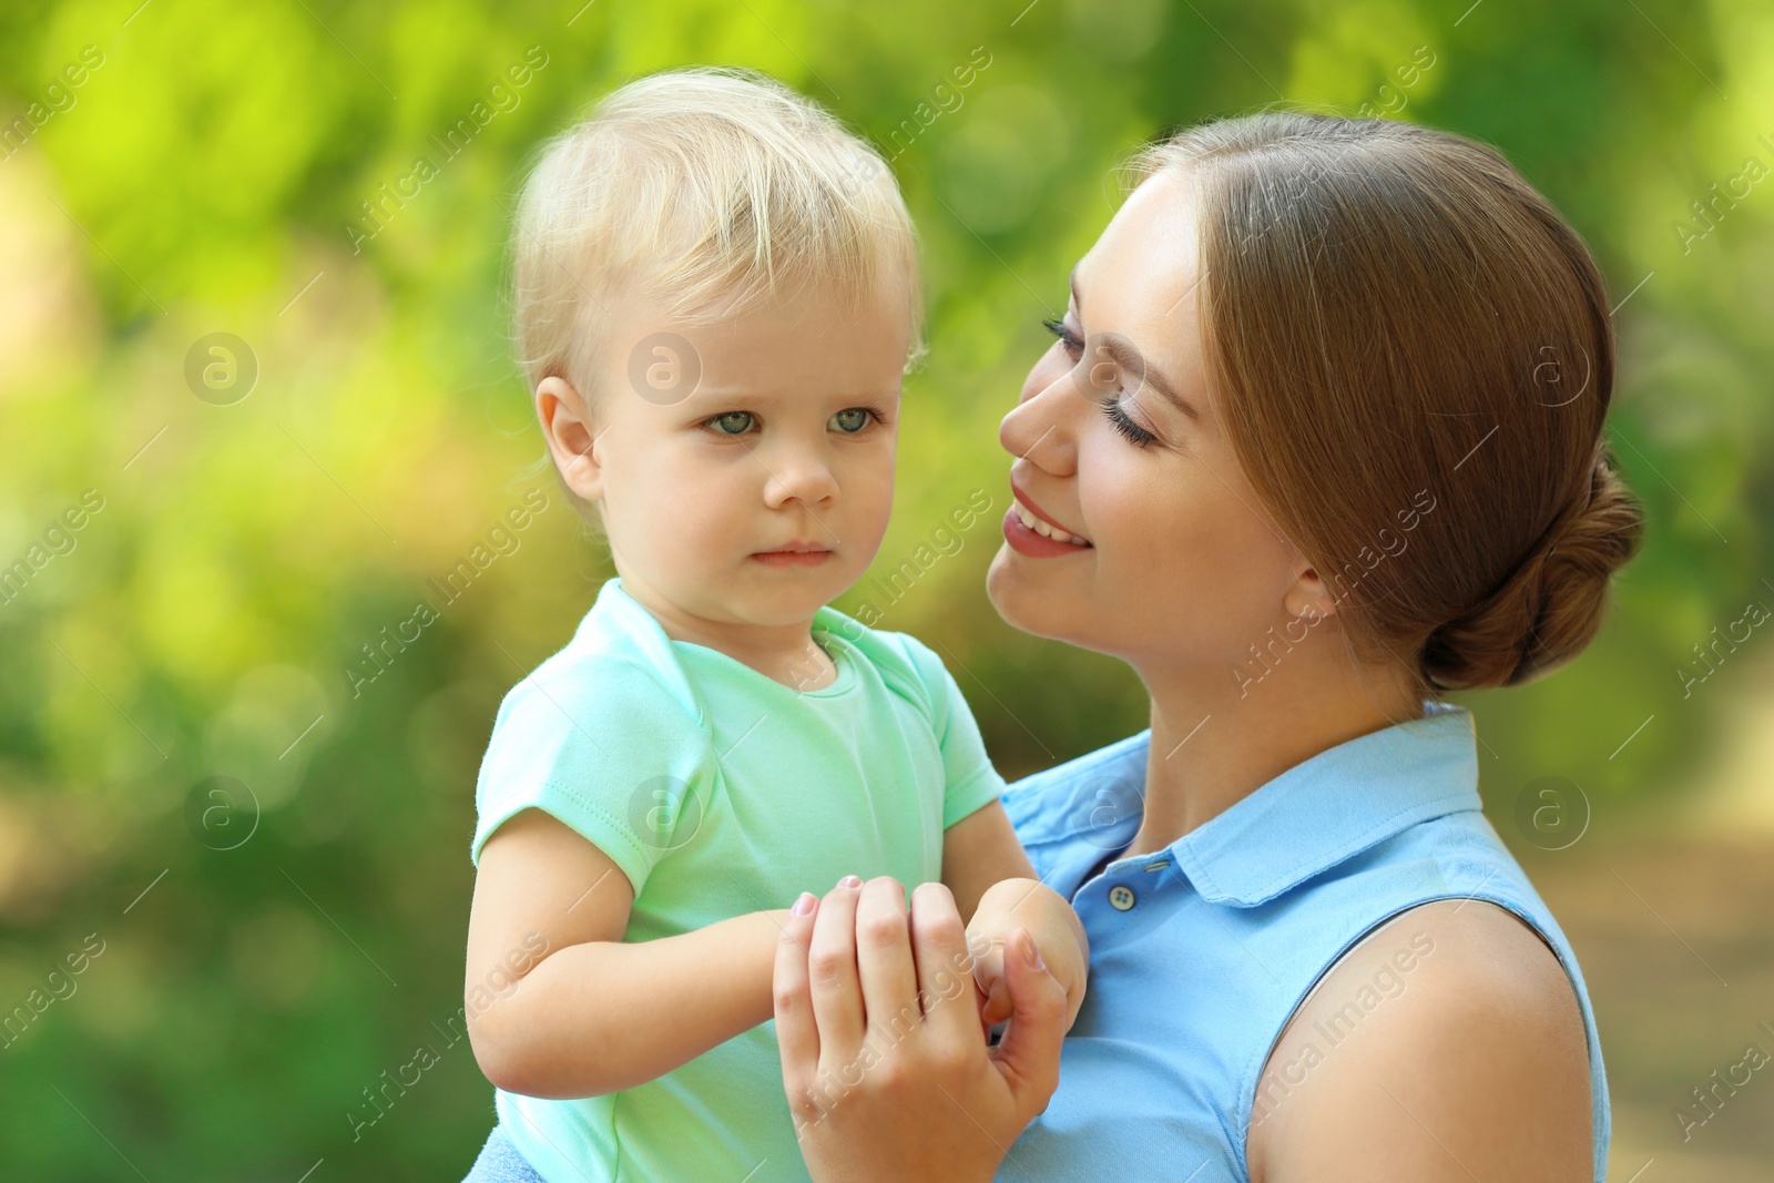
{"type": "Polygon", "coordinates": [[[623,944],[632,905],[616,864],[539,809],[486,841],[465,995],[474,1057],[497,1087],[545,1098],[628,1089],[772,1016],[786,910],[623,944]]]}

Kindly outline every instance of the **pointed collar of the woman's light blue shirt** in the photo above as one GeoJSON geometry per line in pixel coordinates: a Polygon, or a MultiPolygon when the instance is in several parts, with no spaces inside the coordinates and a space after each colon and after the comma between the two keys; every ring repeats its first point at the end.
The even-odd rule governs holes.
{"type": "MultiPolygon", "coordinates": [[[[1425,701],[1423,709],[1423,718],[1346,740],[1300,761],[1171,842],[1166,853],[1208,903],[1251,908],[1419,821],[1481,809],[1472,713],[1435,701],[1425,701]]],[[[1105,850],[1121,850],[1139,828],[1139,809],[1116,811],[1118,816],[1103,823],[1103,805],[1093,812],[1087,800],[1068,805],[1066,798],[1109,800],[1102,787],[1105,777],[1132,782],[1142,798],[1150,740],[1146,731],[1075,766],[1038,773],[1064,782],[1061,798],[1041,805],[1024,798],[1020,803],[1061,827],[1070,821],[1073,832],[1066,839],[1082,839],[1098,858],[1105,850]],[[1080,819],[1091,819],[1084,830],[1077,828],[1080,819]]],[[[1029,837],[1040,841],[1038,832],[1029,837]]],[[[1135,858],[1151,864],[1162,857],[1135,858]]]]}

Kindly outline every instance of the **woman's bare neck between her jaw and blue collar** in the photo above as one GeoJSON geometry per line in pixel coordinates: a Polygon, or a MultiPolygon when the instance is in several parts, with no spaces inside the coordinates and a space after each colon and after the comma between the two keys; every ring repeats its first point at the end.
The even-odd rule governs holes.
{"type": "Polygon", "coordinates": [[[1146,805],[1121,857],[1164,850],[1295,764],[1423,715],[1409,679],[1357,676],[1346,658],[1302,660],[1260,686],[1222,670],[1206,679],[1199,670],[1142,670],[1141,679],[1151,695],[1146,805]]]}

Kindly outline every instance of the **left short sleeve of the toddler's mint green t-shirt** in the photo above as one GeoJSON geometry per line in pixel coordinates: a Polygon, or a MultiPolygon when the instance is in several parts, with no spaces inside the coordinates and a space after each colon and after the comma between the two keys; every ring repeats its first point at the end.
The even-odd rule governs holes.
{"type": "Polygon", "coordinates": [[[713,766],[690,708],[644,665],[559,653],[498,704],[468,857],[479,866],[493,830],[541,809],[601,850],[639,896],[674,846],[685,800],[710,791],[713,766]]]}

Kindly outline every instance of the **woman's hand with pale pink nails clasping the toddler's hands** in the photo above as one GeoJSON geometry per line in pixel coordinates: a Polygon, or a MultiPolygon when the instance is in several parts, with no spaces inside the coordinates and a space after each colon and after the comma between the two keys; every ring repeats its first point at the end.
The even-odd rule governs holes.
{"type": "Polygon", "coordinates": [[[820,1183],[986,1181],[1059,1084],[1066,991],[1013,929],[1011,1022],[983,1039],[972,958],[942,883],[797,901],[775,961],[782,1087],[820,1183]]]}

